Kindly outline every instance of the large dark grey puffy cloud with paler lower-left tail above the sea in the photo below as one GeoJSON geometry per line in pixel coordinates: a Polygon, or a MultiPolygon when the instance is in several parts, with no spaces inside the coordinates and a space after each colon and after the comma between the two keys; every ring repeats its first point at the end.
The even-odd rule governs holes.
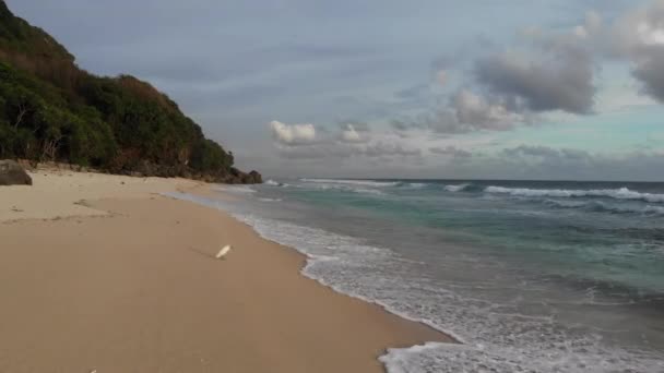
{"type": "MultiPolygon", "coordinates": [[[[511,130],[556,111],[589,115],[596,94],[593,43],[602,33],[602,22],[597,13],[589,12],[583,24],[571,31],[522,32],[521,41],[526,43],[520,49],[491,45],[488,55],[470,63],[470,76],[441,105],[414,119],[393,120],[391,125],[398,131],[459,134],[511,130]]],[[[441,84],[448,84],[450,61],[441,58],[434,63],[441,84]]]]}

